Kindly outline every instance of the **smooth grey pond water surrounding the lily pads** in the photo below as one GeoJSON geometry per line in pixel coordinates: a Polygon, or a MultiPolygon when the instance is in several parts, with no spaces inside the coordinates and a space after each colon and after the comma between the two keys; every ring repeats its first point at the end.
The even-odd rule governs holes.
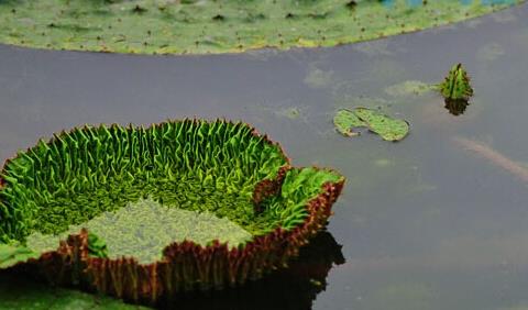
{"type": "Polygon", "coordinates": [[[371,43],[243,55],[0,46],[0,158],[84,123],[244,120],[280,142],[294,164],[348,177],[328,228],[345,263],[330,270],[312,309],[528,309],[527,14],[525,4],[371,43]],[[433,92],[386,91],[438,82],[458,62],[475,90],[460,117],[433,92]],[[410,135],[388,143],[337,134],[333,112],[356,104],[408,120],[410,135]],[[485,147],[460,143],[468,140],[485,147]]]}

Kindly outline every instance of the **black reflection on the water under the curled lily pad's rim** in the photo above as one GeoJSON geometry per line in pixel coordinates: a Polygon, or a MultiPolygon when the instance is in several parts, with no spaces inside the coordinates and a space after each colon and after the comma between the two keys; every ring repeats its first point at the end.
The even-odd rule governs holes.
{"type": "Polygon", "coordinates": [[[333,265],[344,263],[341,245],[328,232],[319,233],[301,248],[288,269],[249,283],[241,288],[175,296],[161,309],[193,310],[300,310],[311,309],[317,295],[324,290],[333,265]]]}

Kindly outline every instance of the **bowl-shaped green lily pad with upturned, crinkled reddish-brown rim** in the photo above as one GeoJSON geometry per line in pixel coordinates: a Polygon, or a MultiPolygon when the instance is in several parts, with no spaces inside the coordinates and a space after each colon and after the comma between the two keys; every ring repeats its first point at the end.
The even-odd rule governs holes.
{"type": "Polygon", "coordinates": [[[243,123],[191,120],[63,132],[8,160],[1,178],[0,258],[8,258],[0,265],[28,261],[54,283],[147,303],[285,266],[326,224],[344,181],[331,170],[289,166],[277,144],[243,123]],[[147,212],[164,214],[139,217],[145,208],[133,206],[143,199],[160,204],[146,203],[147,212]],[[116,225],[144,225],[144,239],[124,235],[119,247],[106,240],[113,226],[105,217],[123,210],[129,217],[116,225]],[[215,214],[216,223],[223,222],[173,225],[179,231],[169,234],[168,214],[208,221],[215,214]],[[222,239],[226,223],[240,228],[241,236],[222,239]],[[90,232],[65,239],[79,228],[90,232]],[[165,239],[153,240],[153,229],[167,232],[165,239]],[[180,234],[188,229],[212,231],[180,234]],[[54,250],[35,243],[35,234],[62,241],[54,250]],[[127,252],[127,243],[145,240],[163,250],[158,259],[143,263],[127,252]]]}

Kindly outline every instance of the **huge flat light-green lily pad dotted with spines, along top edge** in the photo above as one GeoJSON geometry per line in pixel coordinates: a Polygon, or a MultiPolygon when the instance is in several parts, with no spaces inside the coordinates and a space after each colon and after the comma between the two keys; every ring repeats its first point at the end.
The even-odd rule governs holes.
{"type": "Polygon", "coordinates": [[[0,1],[0,42],[142,54],[232,53],[334,46],[458,22],[501,1],[0,1]]]}

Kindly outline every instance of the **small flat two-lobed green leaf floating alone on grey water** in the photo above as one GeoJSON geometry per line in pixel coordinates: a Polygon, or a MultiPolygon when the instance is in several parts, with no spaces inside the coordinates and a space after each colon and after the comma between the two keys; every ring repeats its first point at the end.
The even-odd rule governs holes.
{"type": "Polygon", "coordinates": [[[407,121],[366,108],[341,109],[336,113],[333,124],[345,136],[359,135],[359,132],[354,131],[358,128],[367,128],[386,141],[399,141],[409,133],[407,121]]]}

